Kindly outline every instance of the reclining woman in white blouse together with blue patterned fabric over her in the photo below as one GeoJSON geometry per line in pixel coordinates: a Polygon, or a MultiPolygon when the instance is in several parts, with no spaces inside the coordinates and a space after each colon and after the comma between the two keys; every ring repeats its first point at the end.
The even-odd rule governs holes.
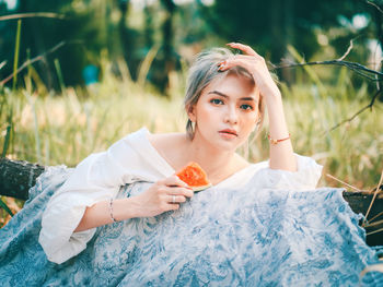
{"type": "Polygon", "coordinates": [[[141,129],[74,170],[39,178],[34,199],[1,230],[11,235],[0,238],[5,286],[21,278],[38,286],[358,283],[376,260],[359,217],[340,190],[314,190],[322,167],[293,154],[264,59],[248,46],[229,47],[243,53],[213,49],[190,69],[186,133],[141,129]],[[265,105],[270,159],[249,164],[235,151],[259,131],[265,105]],[[189,162],[211,188],[194,194],[174,176],[189,162]]]}

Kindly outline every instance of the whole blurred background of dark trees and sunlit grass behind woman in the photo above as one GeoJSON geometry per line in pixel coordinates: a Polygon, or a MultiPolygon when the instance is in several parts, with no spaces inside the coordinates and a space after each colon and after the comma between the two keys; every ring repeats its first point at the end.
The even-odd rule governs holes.
{"type": "MultiPolygon", "coordinates": [[[[320,184],[370,190],[383,169],[382,22],[381,0],[0,0],[0,152],[76,166],[142,125],[183,131],[194,56],[241,41],[278,75],[294,150],[324,166],[320,184]],[[288,67],[341,57],[376,73],[288,67]]],[[[267,159],[266,133],[239,152],[267,159]]]]}

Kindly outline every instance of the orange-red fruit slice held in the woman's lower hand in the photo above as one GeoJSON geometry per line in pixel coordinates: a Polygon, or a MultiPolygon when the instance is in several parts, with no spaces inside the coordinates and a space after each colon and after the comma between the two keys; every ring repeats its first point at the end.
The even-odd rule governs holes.
{"type": "Polygon", "coordinates": [[[184,182],[186,182],[194,192],[198,192],[211,187],[211,182],[205,170],[197,163],[189,163],[186,167],[182,168],[176,176],[184,182]]]}

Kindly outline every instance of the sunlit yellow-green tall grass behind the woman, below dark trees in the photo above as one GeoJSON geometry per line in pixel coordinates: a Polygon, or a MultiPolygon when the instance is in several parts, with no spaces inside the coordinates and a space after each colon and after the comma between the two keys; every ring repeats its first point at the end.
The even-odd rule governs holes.
{"type": "MultiPolygon", "coordinates": [[[[60,74],[59,62],[55,63],[60,74]]],[[[151,132],[184,131],[184,84],[173,87],[167,99],[148,83],[135,83],[129,76],[118,79],[111,70],[111,63],[104,61],[102,82],[86,91],[66,87],[61,81],[62,93],[49,93],[33,76],[33,69],[24,79],[24,88],[0,88],[0,146],[9,145],[7,156],[47,166],[76,166],[89,154],[106,150],[143,125],[151,132]]],[[[367,85],[353,87],[349,71],[338,71],[333,86],[321,83],[317,88],[317,83],[310,81],[290,87],[281,83],[287,121],[297,153],[315,158],[324,166],[324,175],[365,190],[375,187],[383,168],[382,103],[326,132],[369,104],[367,85]]],[[[183,74],[173,77],[174,83],[184,83],[183,74]]],[[[249,146],[249,160],[268,157],[266,131],[267,127],[249,146]]],[[[246,154],[244,148],[241,153],[246,154]]],[[[339,183],[323,176],[320,186],[339,183]]],[[[2,200],[13,212],[23,204],[4,196],[2,200]]],[[[4,212],[1,220],[8,220],[4,212]]]]}

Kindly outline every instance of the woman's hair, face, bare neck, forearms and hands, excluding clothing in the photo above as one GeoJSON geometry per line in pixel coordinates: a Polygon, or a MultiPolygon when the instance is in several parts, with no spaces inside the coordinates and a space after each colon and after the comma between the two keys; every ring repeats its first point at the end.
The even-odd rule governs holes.
{"type": "MultiPolygon", "coordinates": [[[[192,83],[185,99],[188,132],[153,134],[149,141],[174,170],[179,170],[189,162],[197,162],[211,182],[217,184],[249,165],[235,154],[235,150],[260,125],[265,100],[270,115],[271,139],[286,137],[270,146],[270,168],[295,170],[281,96],[264,59],[245,45],[229,46],[243,50],[245,56],[232,55],[227,58],[230,53],[217,53],[217,59],[212,59],[210,53],[201,57],[190,73],[195,79],[189,81],[192,83]],[[246,70],[239,70],[239,65],[246,70]],[[231,71],[230,68],[235,70],[231,71]],[[207,79],[197,82],[204,76],[207,79]],[[265,95],[265,98],[260,95],[265,95]]],[[[192,196],[193,192],[187,190],[187,186],[171,176],[158,181],[139,199],[114,201],[114,216],[118,220],[155,216],[178,208],[179,203],[192,196]],[[175,203],[171,202],[172,195],[175,195],[175,203]]],[[[111,217],[105,216],[108,215],[108,201],[103,201],[88,208],[76,230],[111,223],[111,217]]]]}

